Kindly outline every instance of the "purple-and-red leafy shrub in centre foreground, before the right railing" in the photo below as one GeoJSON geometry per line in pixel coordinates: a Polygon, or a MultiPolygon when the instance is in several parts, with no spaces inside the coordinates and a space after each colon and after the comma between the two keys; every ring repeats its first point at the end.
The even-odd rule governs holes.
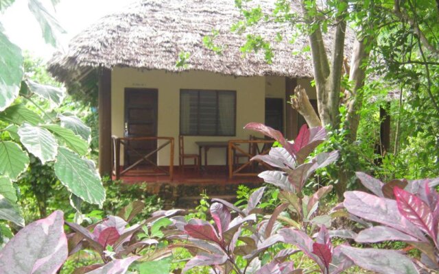
{"type": "MultiPolygon", "coordinates": [[[[258,208],[258,205],[265,190],[263,187],[248,196],[248,203],[244,208],[237,208],[237,206],[222,199],[213,199],[210,213],[215,226],[201,219],[187,221],[187,219],[175,217],[175,225],[182,232],[178,238],[187,240],[182,245],[190,247],[189,251],[194,255],[185,265],[183,272],[195,266],[211,266],[215,273],[274,273],[276,271],[276,273],[292,273],[292,271],[301,271],[295,269],[294,262],[285,261],[297,251],[277,249],[274,245],[278,241],[298,245],[307,256],[316,261],[322,273],[329,271],[329,262],[338,266],[337,262],[346,261],[346,256],[340,253],[340,247],[335,249],[333,253],[331,244],[327,241],[329,234],[323,223],[328,223],[329,219],[329,225],[331,225],[331,217],[316,216],[318,201],[331,190],[332,186],[320,188],[310,197],[302,192],[305,182],[313,171],[337,160],[337,152],[335,151],[333,153],[320,153],[307,161],[311,151],[324,140],[326,136],[324,129],[322,127],[307,129],[304,126],[294,143],[287,142],[280,132],[262,124],[250,123],[246,125],[246,129],[257,130],[274,138],[282,145],[282,147],[273,147],[269,155],[257,155],[252,158],[252,160],[263,160],[280,169],[280,171],[264,171],[259,174],[259,177],[262,177],[265,182],[281,188],[280,193],[273,193],[276,193],[274,197],[280,197],[282,203],[274,209],[272,214],[263,216],[263,218],[258,216],[262,212],[261,206],[258,208]],[[284,212],[287,209],[294,217],[284,212]],[[237,213],[235,218],[232,218],[230,210],[237,213]],[[283,214],[281,214],[282,212],[283,214]],[[307,237],[307,245],[300,245],[297,240],[291,240],[294,238],[293,236],[282,240],[281,235],[287,228],[278,230],[281,227],[280,221],[286,223],[287,226],[292,226],[289,228],[292,234],[298,233],[300,237],[307,237]],[[312,232],[316,225],[322,226],[320,229],[322,234],[320,238],[322,239],[313,245],[313,241],[306,232],[308,230],[312,232]],[[310,242],[313,247],[308,250],[310,242]],[[260,257],[265,258],[263,266],[261,266],[260,257]],[[268,262],[268,258],[274,258],[274,260],[268,262]]],[[[241,192],[248,192],[248,190],[241,189],[241,192]]],[[[266,205],[262,207],[266,208],[266,205]]],[[[331,273],[339,273],[337,271],[342,271],[351,265],[352,263],[344,262],[331,273]]]]}

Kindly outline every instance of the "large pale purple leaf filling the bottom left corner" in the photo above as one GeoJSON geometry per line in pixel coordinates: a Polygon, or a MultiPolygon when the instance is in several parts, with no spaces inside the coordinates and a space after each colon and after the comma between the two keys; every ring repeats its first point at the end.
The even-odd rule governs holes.
{"type": "Polygon", "coordinates": [[[56,210],[21,229],[0,251],[0,273],[56,273],[69,252],[63,217],[56,210]]]}

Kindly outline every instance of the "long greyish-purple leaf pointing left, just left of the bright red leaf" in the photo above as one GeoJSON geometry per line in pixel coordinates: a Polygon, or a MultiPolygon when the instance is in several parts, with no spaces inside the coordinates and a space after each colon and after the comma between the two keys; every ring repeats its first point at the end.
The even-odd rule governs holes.
{"type": "Polygon", "coordinates": [[[343,204],[349,213],[362,219],[388,225],[421,241],[427,240],[416,225],[399,214],[395,200],[377,197],[362,191],[346,191],[343,204]]]}

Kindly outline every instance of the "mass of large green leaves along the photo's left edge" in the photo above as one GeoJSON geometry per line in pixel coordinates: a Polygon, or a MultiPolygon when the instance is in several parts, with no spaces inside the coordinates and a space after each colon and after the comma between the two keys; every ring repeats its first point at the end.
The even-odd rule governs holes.
{"type": "MultiPolygon", "coordinates": [[[[1,5],[1,12],[12,2],[1,5]]],[[[62,29],[55,18],[38,0],[29,0],[28,7],[44,28],[45,40],[56,45],[54,29],[62,29]]],[[[21,175],[24,182],[29,183],[25,188],[36,191],[41,214],[46,213],[48,195],[58,182],[66,186],[67,191],[62,191],[70,195],[78,212],[82,201],[102,206],[105,190],[94,164],[86,159],[90,129],[71,113],[54,110],[64,99],[64,89],[30,79],[40,75],[40,79],[49,81],[32,62],[26,65],[32,66],[34,73],[24,73],[23,53],[5,36],[1,26],[0,47],[0,219],[19,227],[25,225],[16,204],[21,198],[17,191],[20,184],[16,184],[21,175]],[[44,167],[38,175],[32,171],[24,175],[29,171],[29,164],[37,169],[44,167]],[[42,177],[43,173],[46,177],[42,177]]],[[[0,227],[3,231],[8,226],[1,221],[0,227]]],[[[2,242],[3,236],[0,235],[2,242]]]]}

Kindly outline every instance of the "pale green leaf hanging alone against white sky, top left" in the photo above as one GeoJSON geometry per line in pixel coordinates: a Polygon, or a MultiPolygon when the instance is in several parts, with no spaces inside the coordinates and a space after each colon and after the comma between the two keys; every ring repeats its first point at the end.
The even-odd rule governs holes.
{"type": "Polygon", "coordinates": [[[60,26],[60,23],[58,23],[56,18],[50,14],[40,1],[29,0],[27,6],[40,24],[45,42],[56,47],[58,44],[56,40],[56,32],[65,33],[64,29],[60,26]]]}

